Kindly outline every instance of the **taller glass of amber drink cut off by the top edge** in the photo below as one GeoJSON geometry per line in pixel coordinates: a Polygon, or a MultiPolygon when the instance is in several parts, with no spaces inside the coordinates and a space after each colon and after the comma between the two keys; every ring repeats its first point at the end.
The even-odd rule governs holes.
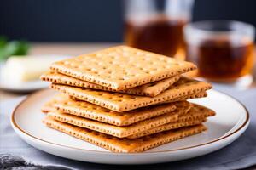
{"type": "Polygon", "coordinates": [[[125,43],[184,59],[183,26],[194,0],[126,0],[125,43]]]}

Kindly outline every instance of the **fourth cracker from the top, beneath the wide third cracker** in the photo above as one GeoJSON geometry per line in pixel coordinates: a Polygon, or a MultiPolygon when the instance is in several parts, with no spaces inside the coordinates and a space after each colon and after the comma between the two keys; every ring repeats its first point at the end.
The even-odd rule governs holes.
{"type": "MultiPolygon", "coordinates": [[[[58,98],[57,94],[55,97],[58,98]]],[[[54,98],[55,98],[54,97],[54,98]]],[[[52,103],[52,107],[58,111],[81,116],[99,122],[106,122],[116,126],[128,126],[135,122],[140,122],[154,116],[160,116],[178,108],[186,110],[191,105],[187,101],[168,103],[163,105],[152,105],[139,108],[132,111],[117,112],[111,111],[98,105],[90,104],[85,101],[73,99],[63,99],[62,101],[52,103]]]]}

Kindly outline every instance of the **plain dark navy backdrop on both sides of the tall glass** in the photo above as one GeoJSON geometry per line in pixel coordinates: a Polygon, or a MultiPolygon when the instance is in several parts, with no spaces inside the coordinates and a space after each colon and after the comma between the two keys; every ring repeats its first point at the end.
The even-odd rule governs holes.
{"type": "MultiPolygon", "coordinates": [[[[160,0],[161,1],[161,0],[160,0]]],[[[122,42],[121,0],[8,0],[0,35],[32,42],[122,42]]],[[[192,20],[241,20],[256,26],[254,0],[195,0],[192,20]]]]}

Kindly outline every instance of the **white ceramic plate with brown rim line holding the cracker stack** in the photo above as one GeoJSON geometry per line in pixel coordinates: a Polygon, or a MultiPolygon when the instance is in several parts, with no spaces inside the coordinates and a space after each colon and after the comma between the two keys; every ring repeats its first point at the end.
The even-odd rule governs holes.
{"type": "Polygon", "coordinates": [[[178,161],[202,156],[230,144],[249,124],[247,109],[236,99],[210,90],[204,99],[192,102],[205,105],[217,112],[209,118],[207,132],[161,145],[143,153],[113,153],[94,144],[75,139],[45,127],[40,107],[55,94],[52,90],[32,94],[15,108],[11,123],[15,132],[28,144],[55,156],[78,161],[108,164],[148,164],[178,161]]]}

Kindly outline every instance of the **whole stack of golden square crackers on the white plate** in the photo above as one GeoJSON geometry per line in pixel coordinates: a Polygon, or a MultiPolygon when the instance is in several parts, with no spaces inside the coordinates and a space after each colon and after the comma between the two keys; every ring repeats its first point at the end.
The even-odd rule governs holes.
{"type": "Polygon", "coordinates": [[[114,152],[142,152],[207,128],[215,112],[187,99],[211,84],[183,77],[192,63],[118,46],[55,62],[41,79],[60,92],[44,123],[114,152]]]}

